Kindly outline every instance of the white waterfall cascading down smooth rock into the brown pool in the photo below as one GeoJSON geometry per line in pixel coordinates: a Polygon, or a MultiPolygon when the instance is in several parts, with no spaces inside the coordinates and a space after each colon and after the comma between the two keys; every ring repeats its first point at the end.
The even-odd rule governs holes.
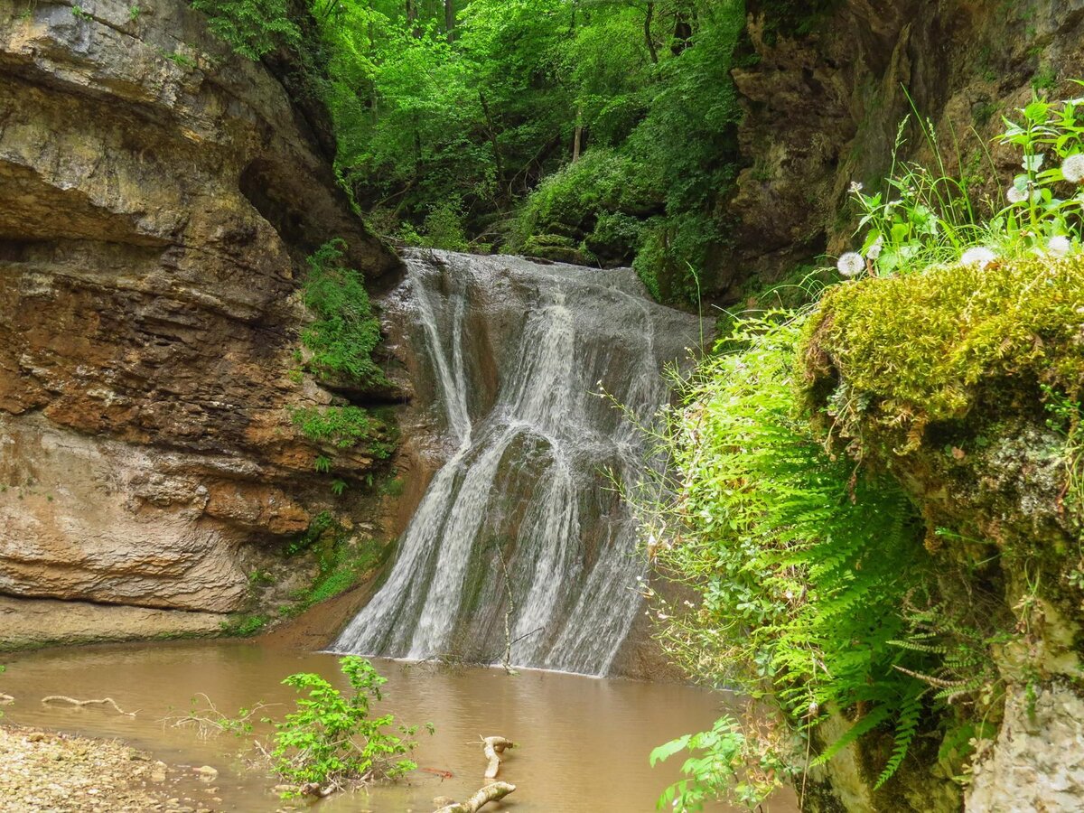
{"type": "Polygon", "coordinates": [[[644,449],[603,392],[648,422],[695,320],[648,301],[628,269],[449,253],[406,264],[392,301],[450,456],[333,648],[488,662],[511,637],[518,666],[605,674],[642,604],[616,483],[635,482],[644,449]]]}

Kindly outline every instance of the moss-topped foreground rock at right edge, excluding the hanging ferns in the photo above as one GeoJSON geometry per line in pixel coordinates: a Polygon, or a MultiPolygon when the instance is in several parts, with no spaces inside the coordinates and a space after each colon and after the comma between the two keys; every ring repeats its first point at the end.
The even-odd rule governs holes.
{"type": "Polygon", "coordinates": [[[1055,695],[1066,713],[1049,730],[1077,731],[1084,696],[1084,260],[839,285],[808,322],[799,373],[829,448],[891,473],[919,507],[945,618],[986,641],[996,680],[953,724],[1006,722],[980,748],[967,809],[1010,809],[1019,788],[992,782],[1006,770],[1040,796],[1084,792],[1009,731],[1055,695]]]}

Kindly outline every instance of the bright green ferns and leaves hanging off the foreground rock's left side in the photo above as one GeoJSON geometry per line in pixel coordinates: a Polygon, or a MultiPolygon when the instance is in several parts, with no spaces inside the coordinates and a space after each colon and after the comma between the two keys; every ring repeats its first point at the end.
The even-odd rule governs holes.
{"type": "Polygon", "coordinates": [[[801,322],[740,323],[739,351],[709,360],[674,413],[675,499],[653,525],[681,540],[661,546],[660,564],[705,603],[662,637],[693,674],[770,689],[795,727],[816,726],[823,708],[861,710],[817,763],[889,728],[882,784],[931,699],[924,676],[955,649],[905,612],[931,581],[913,504],[894,480],[829,455],[797,411],[801,322]]]}

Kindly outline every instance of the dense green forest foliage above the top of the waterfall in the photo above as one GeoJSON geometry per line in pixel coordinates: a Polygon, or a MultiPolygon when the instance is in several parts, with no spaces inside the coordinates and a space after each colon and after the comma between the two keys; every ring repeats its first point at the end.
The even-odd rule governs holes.
{"type": "Polygon", "coordinates": [[[304,52],[387,236],[634,263],[686,300],[726,243],[741,0],[317,0],[317,30],[286,0],[193,5],[247,56],[304,52]]]}

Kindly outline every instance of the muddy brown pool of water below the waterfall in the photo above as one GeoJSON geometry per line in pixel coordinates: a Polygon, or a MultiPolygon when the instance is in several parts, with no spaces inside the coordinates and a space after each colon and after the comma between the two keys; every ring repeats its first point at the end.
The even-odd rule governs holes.
{"type": "MultiPolygon", "coordinates": [[[[280,681],[294,672],[319,672],[343,683],[334,656],[249,643],[103,646],[4,660],[8,671],[0,675],[0,689],[16,698],[4,708],[5,721],[120,737],[166,762],[212,765],[220,771],[215,786],[222,811],[281,809],[270,791],[274,780],[245,767],[238,756],[244,743],[230,736],[201,739],[189,728],[164,726],[163,718],[183,714],[201,692],[225,713],[259,700],[288,704],[293,691],[280,681]],[[40,698],[52,694],[108,696],[139,713],[129,718],[96,707],[42,706],[40,698]]],[[[676,764],[648,766],[651,748],[709,727],[720,712],[718,695],[688,686],[538,671],[508,676],[500,670],[442,670],[397,661],[376,661],[376,667],[388,679],[377,710],[404,723],[433,722],[437,733],[420,735],[415,759],[453,777],[417,772],[409,782],[367,793],[333,796],[314,805],[319,813],[421,812],[433,810],[435,796],[463,800],[485,784],[479,735],[501,735],[519,746],[508,752],[500,776],[514,783],[516,792],[486,811],[646,813],[678,778],[676,764]]],[[[272,711],[284,713],[286,708],[272,711]]],[[[198,787],[195,780],[193,786],[198,787]]],[[[792,813],[797,808],[788,795],[770,810],[792,813]]]]}

